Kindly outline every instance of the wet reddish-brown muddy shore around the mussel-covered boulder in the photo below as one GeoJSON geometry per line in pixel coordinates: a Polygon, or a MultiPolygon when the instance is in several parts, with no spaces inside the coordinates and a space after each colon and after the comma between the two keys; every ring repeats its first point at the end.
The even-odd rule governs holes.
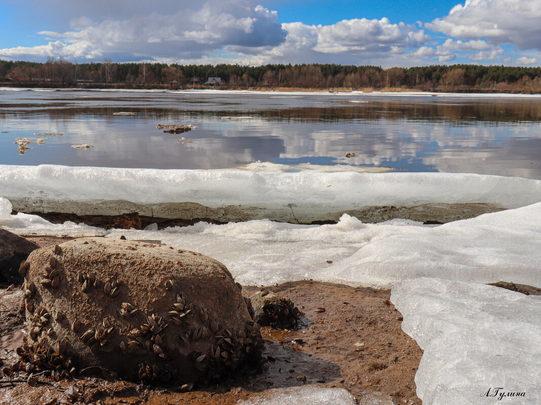
{"type": "MultiPolygon", "coordinates": [[[[27,239],[39,246],[67,241],[67,237],[27,239]]],[[[527,294],[540,289],[496,284],[527,294]]],[[[0,289],[0,368],[18,360],[23,345],[22,291],[17,286],[0,289]]],[[[234,404],[273,388],[314,384],[345,388],[357,400],[381,393],[394,404],[416,404],[414,376],[422,350],[401,330],[402,316],[390,302],[390,290],[349,287],[314,281],[287,282],[266,287],[291,299],[304,313],[295,330],[263,327],[263,366],[246,375],[210,387],[151,387],[103,376],[80,375],[58,382],[38,376],[35,386],[26,373],[0,377],[0,404],[70,403],[71,387],[80,391],[80,403],[95,404],[234,404]],[[324,308],[325,311],[322,311],[324,308]]],[[[245,296],[261,287],[243,286],[245,296]]]]}

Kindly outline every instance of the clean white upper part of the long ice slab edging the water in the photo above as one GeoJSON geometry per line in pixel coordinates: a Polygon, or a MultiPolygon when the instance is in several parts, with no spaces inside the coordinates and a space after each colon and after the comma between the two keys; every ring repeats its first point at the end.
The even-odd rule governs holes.
{"type": "Polygon", "coordinates": [[[314,211],[427,203],[541,201],[541,180],[464,173],[324,173],[0,165],[0,195],[60,201],[191,201],[314,211]]]}

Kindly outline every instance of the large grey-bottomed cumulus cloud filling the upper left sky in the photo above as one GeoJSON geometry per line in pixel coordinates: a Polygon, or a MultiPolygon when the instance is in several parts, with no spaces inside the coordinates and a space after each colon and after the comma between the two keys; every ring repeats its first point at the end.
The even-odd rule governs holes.
{"type": "MultiPolygon", "coordinates": [[[[133,5],[131,1],[121,3],[133,5]]],[[[207,0],[196,10],[179,8],[178,3],[173,9],[173,2],[162,2],[157,9],[163,9],[164,3],[171,3],[170,12],[165,14],[133,14],[101,22],[88,16],[74,17],[70,19],[71,30],[38,32],[51,41],[49,44],[3,49],[0,56],[96,59],[122,54],[130,60],[180,60],[201,57],[227,45],[276,46],[286,38],[286,32],[276,23],[276,12],[248,0],[207,0]]]]}

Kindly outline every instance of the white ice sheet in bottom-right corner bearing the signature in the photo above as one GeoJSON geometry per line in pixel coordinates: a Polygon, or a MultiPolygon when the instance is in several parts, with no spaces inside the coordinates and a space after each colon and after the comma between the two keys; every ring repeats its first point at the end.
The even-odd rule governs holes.
{"type": "Polygon", "coordinates": [[[424,350],[415,375],[423,405],[541,403],[539,296],[420,278],[395,285],[391,301],[424,350]],[[500,402],[500,393],[525,395],[500,402]]]}

